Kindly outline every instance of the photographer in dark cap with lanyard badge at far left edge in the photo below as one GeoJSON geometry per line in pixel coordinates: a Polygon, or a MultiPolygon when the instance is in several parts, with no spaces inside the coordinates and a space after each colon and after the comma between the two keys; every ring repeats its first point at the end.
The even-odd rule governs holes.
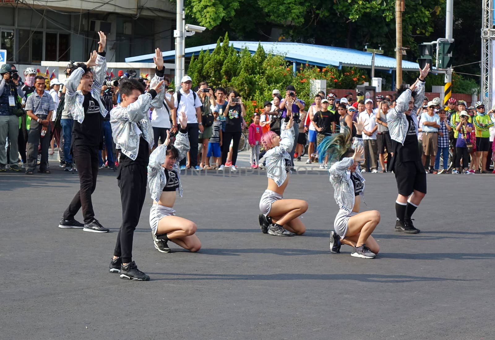
{"type": "Polygon", "coordinates": [[[19,117],[14,109],[20,109],[19,97],[24,97],[19,86],[19,74],[17,70],[11,69],[10,64],[0,67],[0,171],[5,171],[7,164],[7,152],[5,142],[10,141],[10,170],[20,171],[17,165],[19,159],[17,138],[19,135],[19,117]]]}

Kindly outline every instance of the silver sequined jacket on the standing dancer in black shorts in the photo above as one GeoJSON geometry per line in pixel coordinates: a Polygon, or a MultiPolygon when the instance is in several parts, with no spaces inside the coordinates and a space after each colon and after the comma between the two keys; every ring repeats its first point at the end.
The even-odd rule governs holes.
{"type": "MultiPolygon", "coordinates": [[[[418,108],[423,103],[423,98],[425,97],[425,82],[418,81],[416,84],[416,99],[414,100],[414,107],[411,110],[411,118],[416,127],[416,136],[418,135],[418,117],[416,112],[418,108]]],[[[409,123],[405,117],[404,112],[409,109],[409,101],[411,100],[411,90],[407,89],[397,98],[396,107],[392,108],[389,113],[387,113],[387,124],[389,125],[390,137],[404,144],[405,136],[407,135],[407,129],[409,128],[409,123]]]]}

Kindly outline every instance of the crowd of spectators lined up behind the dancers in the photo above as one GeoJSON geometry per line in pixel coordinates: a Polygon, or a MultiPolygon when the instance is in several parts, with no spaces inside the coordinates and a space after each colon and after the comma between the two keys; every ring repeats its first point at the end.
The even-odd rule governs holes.
{"type": "MultiPolygon", "coordinates": [[[[132,70],[128,73],[132,74],[132,70]]],[[[15,67],[2,65],[0,171],[24,170],[31,174],[39,166],[38,172],[49,173],[48,155],[55,151],[58,151],[60,168],[77,170],[70,152],[73,116],[64,105],[66,88],[56,78],[46,88],[45,78],[37,76],[30,67],[24,71],[24,82],[16,74],[15,67]],[[16,107],[23,108],[26,114],[14,115],[11,108],[16,107]]],[[[149,81],[144,81],[148,85],[149,81]]],[[[165,87],[168,87],[169,80],[165,78],[165,82],[165,87]]],[[[108,112],[120,101],[118,85],[113,85],[103,85],[100,93],[101,103],[108,112]]],[[[177,113],[184,111],[188,118],[191,150],[181,161],[180,169],[237,171],[238,147],[241,134],[246,129],[250,166],[261,168],[263,165],[258,164],[264,154],[261,135],[269,130],[280,134],[289,99],[293,103],[296,136],[294,149],[290,152],[293,167],[294,161],[301,161],[305,152],[306,164],[316,162],[316,146],[325,136],[341,132],[344,127],[349,128],[354,136],[353,122],[359,118],[365,122],[362,171],[390,171],[387,161],[392,156],[392,140],[387,113],[395,106],[391,95],[365,99],[362,93],[354,98],[349,92],[345,97],[337,98],[334,93],[320,91],[310,98],[312,104],[306,110],[305,100],[297,97],[293,85],[288,85],[285,92],[273,89],[272,98],[263,103],[262,110],[254,113],[252,123],[246,126],[246,107],[237,91],[222,87],[213,89],[205,82],[194,87],[192,79],[186,75],[181,79],[179,91],[167,90],[162,108],[149,110],[154,148],[164,142],[168,130],[177,132],[177,113]]],[[[439,98],[430,101],[425,97],[423,106],[416,113],[419,121],[418,149],[425,170],[435,174],[491,173],[495,111],[486,112],[483,102],[468,108],[464,101],[457,102],[454,98],[449,99],[446,110],[440,104],[439,98]]],[[[119,150],[113,142],[109,114],[103,118],[102,140],[99,168],[115,169],[119,150]]],[[[326,159],[320,162],[320,168],[328,168],[328,162],[326,159]]]]}

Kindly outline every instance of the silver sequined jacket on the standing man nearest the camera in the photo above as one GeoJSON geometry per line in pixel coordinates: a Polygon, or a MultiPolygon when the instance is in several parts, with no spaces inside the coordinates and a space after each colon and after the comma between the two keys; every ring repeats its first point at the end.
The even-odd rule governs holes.
{"type": "MultiPolygon", "coordinates": [[[[154,88],[156,84],[163,80],[155,74],[149,88],[154,88]]],[[[148,142],[149,148],[153,147],[153,128],[149,120],[148,109],[150,106],[161,108],[163,106],[163,92],[165,85],[162,85],[161,91],[158,92],[155,98],[152,98],[149,92],[142,94],[138,100],[129,104],[126,108],[120,105],[110,111],[110,124],[112,125],[112,136],[115,142],[115,147],[121,152],[135,160],[139,151],[140,134],[137,131],[137,122],[141,123],[141,132],[143,138],[148,142]]]]}

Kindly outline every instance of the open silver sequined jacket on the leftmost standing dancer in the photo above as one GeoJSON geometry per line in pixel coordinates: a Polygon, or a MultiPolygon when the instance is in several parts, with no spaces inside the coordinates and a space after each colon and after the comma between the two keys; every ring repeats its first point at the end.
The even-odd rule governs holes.
{"type": "MultiPolygon", "coordinates": [[[[100,100],[100,92],[103,81],[106,76],[106,58],[98,54],[96,58],[97,65],[93,67],[93,85],[91,86],[91,96],[98,102],[99,112],[104,117],[108,111],[100,100]]],[[[68,110],[72,113],[74,120],[79,123],[84,121],[84,95],[81,90],[78,90],[79,82],[85,73],[85,69],[78,67],[72,71],[69,78],[65,81],[65,105],[68,106],[68,110]]]]}

